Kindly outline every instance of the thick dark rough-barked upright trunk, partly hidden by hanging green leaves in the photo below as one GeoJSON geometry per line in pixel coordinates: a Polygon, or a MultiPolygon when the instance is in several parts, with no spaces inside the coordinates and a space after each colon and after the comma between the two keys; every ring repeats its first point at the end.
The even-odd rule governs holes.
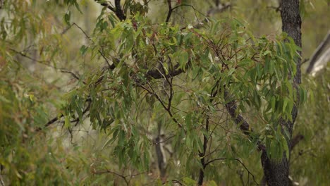
{"type": "MultiPolygon", "coordinates": [[[[292,37],[295,44],[301,47],[301,18],[299,14],[299,0],[282,0],[281,1],[281,19],[282,19],[282,31],[288,33],[289,37],[292,37]]],[[[293,77],[293,87],[298,88],[301,82],[301,70],[300,70],[300,58],[295,60],[297,66],[297,73],[293,77]]],[[[298,95],[299,96],[299,95],[298,95]]],[[[283,128],[288,128],[290,132],[290,138],[292,137],[293,123],[298,114],[298,101],[295,100],[295,106],[292,111],[293,122],[281,120],[281,126],[283,128]]],[[[290,140],[288,140],[289,149],[290,140]]],[[[286,156],[283,154],[283,159],[281,162],[271,161],[267,156],[267,151],[262,151],[262,168],[264,169],[264,178],[267,185],[279,186],[279,185],[289,185],[289,162],[286,156]]]]}

